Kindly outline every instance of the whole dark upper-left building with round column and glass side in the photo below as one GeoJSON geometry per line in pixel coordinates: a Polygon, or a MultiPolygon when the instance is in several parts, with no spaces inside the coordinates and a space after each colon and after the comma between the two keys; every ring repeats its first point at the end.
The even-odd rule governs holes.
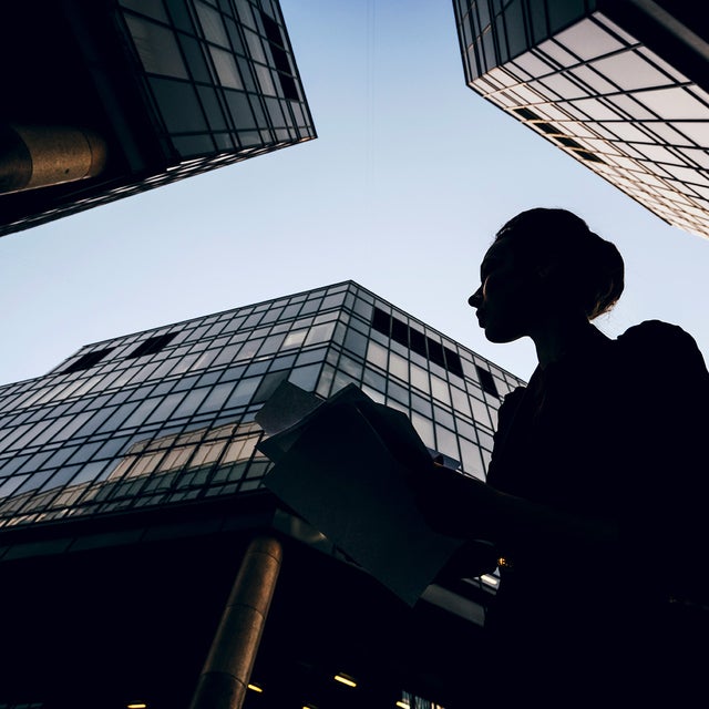
{"type": "Polygon", "coordinates": [[[278,0],[0,9],[0,236],[316,131],[278,0]]]}

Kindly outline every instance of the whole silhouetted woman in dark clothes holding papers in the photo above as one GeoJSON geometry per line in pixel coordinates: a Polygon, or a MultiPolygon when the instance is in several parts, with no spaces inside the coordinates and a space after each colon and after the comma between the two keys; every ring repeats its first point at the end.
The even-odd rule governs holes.
{"type": "Polygon", "coordinates": [[[500,557],[473,684],[508,706],[692,697],[707,655],[688,645],[707,614],[688,594],[703,583],[709,502],[695,340],[657,320],[615,340],[592,325],[620,297],[624,263],[564,209],[505,224],[481,282],[469,302],[485,337],[532,338],[538,366],[499,411],[486,482],[433,467],[413,483],[431,525],[470,541],[463,564],[477,540],[500,557]]]}

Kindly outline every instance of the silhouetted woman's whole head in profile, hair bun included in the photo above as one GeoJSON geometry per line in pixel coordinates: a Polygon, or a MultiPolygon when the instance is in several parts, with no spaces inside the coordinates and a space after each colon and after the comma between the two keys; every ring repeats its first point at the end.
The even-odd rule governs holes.
{"type": "Polygon", "coordinates": [[[489,338],[511,341],[530,335],[523,330],[549,310],[588,320],[607,312],[623,292],[624,263],[618,249],[575,214],[538,207],[497,232],[481,281],[469,302],[489,338]]]}

